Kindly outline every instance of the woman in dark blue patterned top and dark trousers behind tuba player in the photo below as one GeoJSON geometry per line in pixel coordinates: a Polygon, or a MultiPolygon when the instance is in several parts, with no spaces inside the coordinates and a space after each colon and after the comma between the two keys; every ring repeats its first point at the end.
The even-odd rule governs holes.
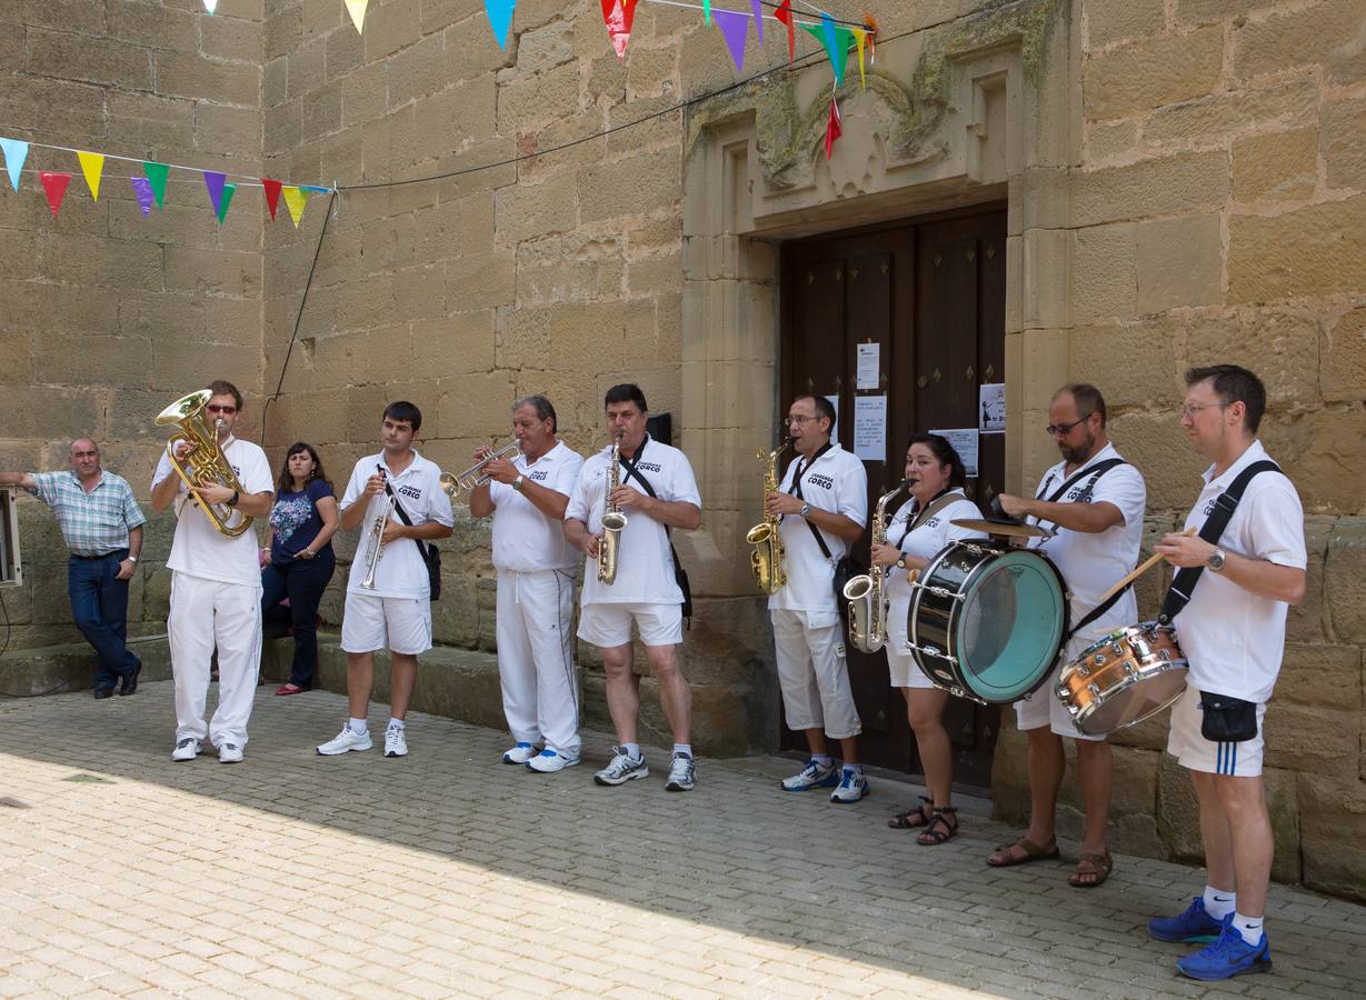
{"type": "Polygon", "coordinates": [[[337,500],[311,444],[290,445],[270,510],[270,555],[261,571],[261,613],[268,624],[290,624],[294,665],[276,694],[313,687],[318,665],[318,601],[332,579],[332,536],[340,519],[337,500]]]}

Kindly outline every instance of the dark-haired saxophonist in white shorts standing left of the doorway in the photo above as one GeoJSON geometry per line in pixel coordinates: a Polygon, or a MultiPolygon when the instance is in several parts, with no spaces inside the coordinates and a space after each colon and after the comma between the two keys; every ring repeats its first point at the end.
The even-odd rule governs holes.
{"type": "Polygon", "coordinates": [[[683,642],[683,590],[678,583],[669,529],[691,531],[702,523],[702,497],[687,456],[645,432],[645,393],[635,385],[613,385],[604,400],[613,445],[583,463],[564,512],[564,537],[587,555],[579,638],[602,652],[607,704],[619,746],[600,770],[598,784],[617,786],[647,777],[637,735],[641,679],[632,669],[631,623],[650,657],[660,704],[673,731],[668,791],[687,791],[695,780],[691,724],[693,691],[679,668],[683,642]],[[619,462],[613,463],[613,449],[619,462]],[[616,489],[608,493],[612,477],[616,489]],[[617,536],[615,578],[600,574],[602,515],[608,505],[627,519],[617,536]]]}

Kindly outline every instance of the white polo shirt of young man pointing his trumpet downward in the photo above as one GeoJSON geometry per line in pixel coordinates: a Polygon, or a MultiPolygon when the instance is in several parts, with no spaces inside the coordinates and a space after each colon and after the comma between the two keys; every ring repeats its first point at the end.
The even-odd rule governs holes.
{"type": "MultiPolygon", "coordinates": [[[[369,455],[355,463],[351,478],[342,496],[342,510],[363,500],[365,482],[377,466],[384,464],[384,452],[369,455]]],[[[403,504],[408,520],[414,525],[426,525],[432,520],[447,527],[455,526],[455,515],[451,512],[451,497],[441,489],[441,470],[434,462],[422,458],[417,448],[413,449],[413,462],[399,474],[393,474],[388,466],[384,467],[389,477],[389,488],[403,504]]],[[[366,504],[365,516],[361,519],[361,540],[355,546],[355,560],[351,563],[351,575],[347,579],[347,590],[374,597],[429,597],[432,587],[428,581],[426,563],[422,561],[422,552],[414,538],[399,538],[384,546],[384,555],[374,570],[374,590],[361,586],[370,563],[370,526],[380,516],[388,504],[389,495],[378,493],[366,504]]],[[[389,515],[396,523],[403,523],[398,512],[389,515]]],[[[434,542],[423,542],[433,545],[434,542]]]]}

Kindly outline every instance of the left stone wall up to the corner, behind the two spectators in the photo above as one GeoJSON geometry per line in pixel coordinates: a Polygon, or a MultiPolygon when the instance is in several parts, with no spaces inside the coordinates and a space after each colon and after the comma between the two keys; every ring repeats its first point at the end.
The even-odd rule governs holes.
{"type": "MultiPolygon", "coordinates": [[[[0,5],[0,134],[257,175],[261,0],[223,7],[210,18],[198,0],[0,5]]],[[[164,406],[213,377],[260,392],[268,216],[260,190],[243,189],[219,225],[204,182],[172,171],[164,210],[143,219],[130,167],[141,176],[105,161],[98,201],[71,153],[34,148],[18,194],[4,179],[0,469],[64,469],[71,440],[90,434],[146,499],[164,406]],[[57,219],[40,169],[74,173],[57,219]]],[[[20,512],[26,585],[0,592],[11,646],[78,638],[60,534],[40,504],[20,512]]],[[[163,520],[134,582],[135,633],[165,624],[163,520]]]]}

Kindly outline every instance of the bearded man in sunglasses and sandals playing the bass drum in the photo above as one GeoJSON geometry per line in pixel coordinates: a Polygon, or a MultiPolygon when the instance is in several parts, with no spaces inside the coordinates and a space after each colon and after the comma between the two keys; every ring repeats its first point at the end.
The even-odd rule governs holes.
{"type": "MultiPolygon", "coordinates": [[[[1071,592],[1071,622],[1081,622],[1102,596],[1138,561],[1143,538],[1147,490],[1139,471],[1124,462],[1105,436],[1105,399],[1094,385],[1064,385],[1048,407],[1048,434],[1063,460],[1044,474],[1034,499],[1000,496],[1001,508],[1018,518],[1050,526],[1056,534],[1034,540],[1053,560],[1071,592]]],[[[1067,758],[1063,738],[1076,740],[1076,768],[1086,809],[1082,857],[1068,883],[1094,888],[1115,862],[1105,850],[1109,821],[1112,757],[1105,736],[1078,732],[1067,709],[1052,695],[1061,668],[1091,642],[1113,628],[1138,620],[1132,590],[1067,643],[1057,672],[1031,697],[1015,702],[1018,727],[1029,739],[1030,828],[1014,844],[996,850],[993,867],[1056,858],[1055,813],[1067,758]]]]}

